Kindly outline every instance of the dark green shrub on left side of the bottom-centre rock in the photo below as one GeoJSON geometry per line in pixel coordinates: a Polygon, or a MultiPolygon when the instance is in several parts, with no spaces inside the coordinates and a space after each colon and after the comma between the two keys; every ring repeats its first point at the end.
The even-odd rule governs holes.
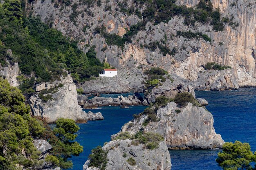
{"type": "Polygon", "coordinates": [[[92,149],[92,153],[89,155],[89,167],[97,167],[100,170],[105,170],[108,163],[108,151],[105,151],[101,146],[92,149]]]}

